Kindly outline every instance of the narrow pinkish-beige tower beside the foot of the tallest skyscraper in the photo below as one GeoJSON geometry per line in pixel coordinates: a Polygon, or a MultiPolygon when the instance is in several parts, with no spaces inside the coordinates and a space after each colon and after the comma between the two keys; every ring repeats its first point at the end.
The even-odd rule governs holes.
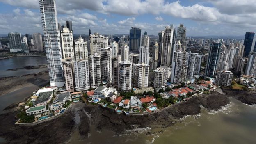
{"type": "Polygon", "coordinates": [[[72,59],[70,57],[62,59],[62,64],[64,70],[66,90],[69,92],[74,92],[72,59]]]}

